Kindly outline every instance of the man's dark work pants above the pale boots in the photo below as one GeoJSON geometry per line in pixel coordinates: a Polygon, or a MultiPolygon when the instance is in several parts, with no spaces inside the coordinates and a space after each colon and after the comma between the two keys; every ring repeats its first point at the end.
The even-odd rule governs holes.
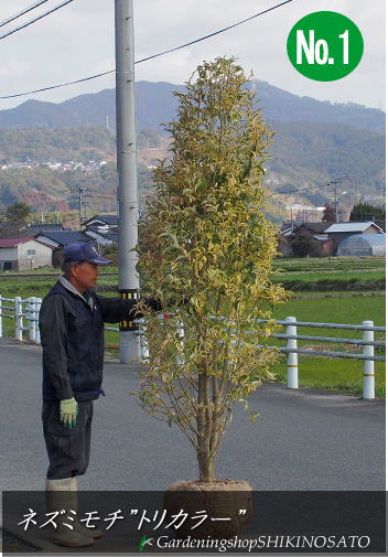
{"type": "Polygon", "coordinates": [[[60,401],[44,400],[43,433],[50,465],[47,480],[63,480],[86,472],[90,456],[93,400],[78,403],[77,425],[67,429],[60,421],[60,401]]]}

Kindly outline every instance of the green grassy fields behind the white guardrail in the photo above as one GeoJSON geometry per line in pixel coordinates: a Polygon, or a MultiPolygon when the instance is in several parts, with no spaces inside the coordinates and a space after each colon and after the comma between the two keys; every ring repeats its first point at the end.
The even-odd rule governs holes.
{"type": "MultiPolygon", "coordinates": [[[[276,267],[284,269],[282,274],[274,275],[274,280],[288,277],[292,279],[298,277],[298,280],[309,282],[317,279],[317,277],[327,277],[336,280],[348,280],[353,277],[362,275],[365,277],[384,277],[382,258],[355,258],[346,260],[342,258],[325,258],[325,259],[278,259],[276,267]],[[332,268],[332,270],[328,270],[332,268]],[[325,269],[325,270],[323,270],[325,269]]],[[[109,268],[109,272],[117,271],[117,268],[109,268]]],[[[7,298],[21,296],[36,296],[43,298],[50,288],[54,285],[58,276],[58,270],[52,270],[50,277],[39,276],[47,274],[47,269],[42,269],[36,277],[24,278],[23,275],[29,275],[29,271],[18,274],[18,277],[9,277],[8,274],[0,274],[0,293],[7,298]]],[[[31,271],[30,271],[31,274],[31,271]]],[[[116,277],[100,275],[98,285],[109,286],[117,282],[116,277]]],[[[284,281],[285,282],[285,281],[284,281]]],[[[112,292],[103,292],[104,296],[116,296],[112,292]]],[[[346,292],[314,292],[316,298],[291,299],[287,303],[278,306],[273,310],[276,319],[284,319],[289,315],[295,317],[299,321],[320,321],[332,323],[348,323],[359,324],[364,320],[374,321],[375,325],[385,325],[385,297],[380,292],[362,293],[354,292],[349,296],[346,292]],[[330,294],[330,298],[324,298],[330,294]],[[363,296],[362,296],[363,294],[363,296]],[[370,296],[365,296],[370,294],[370,296]]],[[[6,333],[13,335],[13,321],[3,320],[6,333]]],[[[279,332],[283,332],[280,328],[279,332]]],[[[345,331],[333,329],[312,329],[299,328],[299,334],[334,336],[344,339],[360,339],[362,333],[358,331],[345,331]]],[[[382,333],[375,334],[376,340],[382,339],[382,333]]],[[[118,344],[118,333],[107,332],[106,342],[108,346],[118,344]]],[[[276,339],[269,340],[270,344],[284,344],[283,341],[276,339]]],[[[323,342],[299,341],[299,346],[314,346],[314,350],[340,351],[340,352],[359,352],[359,347],[351,344],[336,344],[323,342]]],[[[109,349],[108,353],[117,356],[117,350],[109,349]]],[[[379,350],[379,353],[382,352],[379,350]]],[[[376,392],[378,396],[384,396],[385,393],[385,365],[384,363],[375,363],[376,371],[376,392]]],[[[280,356],[279,363],[274,366],[273,372],[277,378],[281,382],[285,381],[285,356],[280,356]]],[[[299,376],[300,386],[328,388],[336,392],[362,394],[363,385],[363,362],[357,360],[327,358],[317,356],[299,356],[299,376]]]]}

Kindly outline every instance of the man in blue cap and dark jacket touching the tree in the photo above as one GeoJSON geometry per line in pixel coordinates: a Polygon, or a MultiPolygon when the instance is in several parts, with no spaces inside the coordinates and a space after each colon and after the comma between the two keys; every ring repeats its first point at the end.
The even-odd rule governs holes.
{"type": "MultiPolygon", "coordinates": [[[[60,500],[76,507],[77,476],[86,472],[90,453],[93,400],[100,395],[104,365],[104,323],[132,321],[138,300],[104,298],[93,287],[100,257],[94,242],[69,244],[63,249],[63,275],[44,298],[40,312],[43,347],[43,432],[50,465],[46,502],[52,510],[60,500]],[[64,493],[65,492],[65,493],[64,493]]],[[[153,310],[159,302],[148,300],[153,310]]],[[[53,542],[69,547],[94,544],[101,532],[82,526],[57,527],[53,542]]]]}

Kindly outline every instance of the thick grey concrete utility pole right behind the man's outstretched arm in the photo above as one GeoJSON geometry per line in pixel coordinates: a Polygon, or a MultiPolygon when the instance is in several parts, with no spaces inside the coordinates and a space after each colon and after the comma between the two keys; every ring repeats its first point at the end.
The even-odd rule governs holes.
{"type": "MultiPolygon", "coordinates": [[[[134,55],[132,0],[115,0],[116,28],[116,133],[119,172],[119,292],[138,299],[138,179],[134,131],[134,55]]],[[[140,361],[140,336],[132,321],[120,323],[120,362],[140,361]]]]}

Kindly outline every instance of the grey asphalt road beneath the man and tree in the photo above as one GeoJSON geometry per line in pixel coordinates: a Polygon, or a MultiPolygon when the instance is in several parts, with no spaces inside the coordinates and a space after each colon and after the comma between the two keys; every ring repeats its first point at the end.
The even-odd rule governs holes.
{"type": "MultiPolygon", "coordinates": [[[[333,364],[334,365],[334,364],[333,364]]],[[[0,339],[2,490],[43,490],[41,347],[0,339]]],[[[129,390],[129,365],[107,362],[106,398],[95,403],[90,465],[82,490],[164,490],[197,478],[195,452],[177,428],[146,416],[129,390]]],[[[237,409],[217,462],[220,478],[257,490],[384,490],[385,403],[266,385],[251,397],[261,417],[237,409]]]]}

